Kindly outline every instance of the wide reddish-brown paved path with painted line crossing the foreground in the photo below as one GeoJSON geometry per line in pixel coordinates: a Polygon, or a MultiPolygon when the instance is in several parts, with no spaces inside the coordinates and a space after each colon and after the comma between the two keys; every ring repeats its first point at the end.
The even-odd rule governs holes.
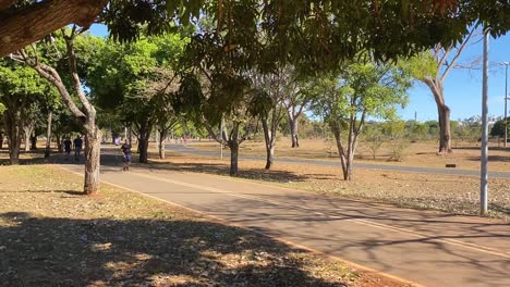
{"type": "MultiPolygon", "coordinates": [[[[83,174],[83,165],[57,160],[83,174]]],[[[422,286],[510,286],[510,225],[223,176],[133,167],[105,150],[101,180],[422,286]]]]}

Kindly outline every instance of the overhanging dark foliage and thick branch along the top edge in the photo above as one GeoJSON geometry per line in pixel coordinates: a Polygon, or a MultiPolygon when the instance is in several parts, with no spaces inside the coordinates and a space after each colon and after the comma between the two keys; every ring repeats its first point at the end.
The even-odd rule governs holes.
{"type": "MultiPolygon", "coordinates": [[[[76,23],[108,25],[113,38],[132,40],[142,34],[196,24],[208,16],[215,29],[255,39],[263,34],[270,54],[281,61],[337,64],[360,50],[376,59],[396,59],[458,42],[467,27],[486,25],[493,36],[510,29],[505,0],[1,0],[0,54],[14,52],[53,30],[76,23]],[[100,18],[97,15],[100,14],[100,18]]],[[[264,54],[252,42],[252,50],[264,54]]],[[[231,42],[230,45],[242,45],[231,42]]],[[[229,46],[228,48],[232,48],[229,46]]]]}

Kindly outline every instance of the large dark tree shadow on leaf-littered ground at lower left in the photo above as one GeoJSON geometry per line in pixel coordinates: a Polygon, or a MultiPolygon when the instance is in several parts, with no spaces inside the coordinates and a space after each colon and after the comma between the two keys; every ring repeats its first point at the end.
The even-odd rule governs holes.
{"type": "Polygon", "coordinates": [[[315,277],[303,250],[205,221],[0,220],[1,286],[344,286],[315,277]]]}

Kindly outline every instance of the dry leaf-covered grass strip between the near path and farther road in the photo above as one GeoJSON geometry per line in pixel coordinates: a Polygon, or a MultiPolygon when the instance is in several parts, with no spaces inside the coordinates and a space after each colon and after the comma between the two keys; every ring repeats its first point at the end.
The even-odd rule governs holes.
{"type": "MultiPolygon", "coordinates": [[[[156,159],[157,153],[153,152],[150,157],[156,159]]],[[[169,152],[167,160],[153,160],[153,164],[162,170],[228,176],[229,161],[169,152]]],[[[340,166],[282,163],[278,162],[278,158],[270,171],[264,170],[264,161],[240,161],[239,166],[239,179],[403,208],[467,215],[479,212],[479,178],[476,176],[356,169],[354,179],[345,182],[341,177],[340,166]]],[[[489,177],[489,216],[510,221],[509,186],[510,179],[489,177]]]]}

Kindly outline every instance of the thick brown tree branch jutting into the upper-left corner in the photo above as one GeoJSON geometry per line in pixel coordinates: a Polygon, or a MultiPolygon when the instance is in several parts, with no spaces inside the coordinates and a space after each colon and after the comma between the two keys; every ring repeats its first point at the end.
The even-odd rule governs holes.
{"type": "Polygon", "coordinates": [[[0,17],[0,55],[15,52],[71,23],[88,27],[108,0],[44,0],[0,17]]]}

